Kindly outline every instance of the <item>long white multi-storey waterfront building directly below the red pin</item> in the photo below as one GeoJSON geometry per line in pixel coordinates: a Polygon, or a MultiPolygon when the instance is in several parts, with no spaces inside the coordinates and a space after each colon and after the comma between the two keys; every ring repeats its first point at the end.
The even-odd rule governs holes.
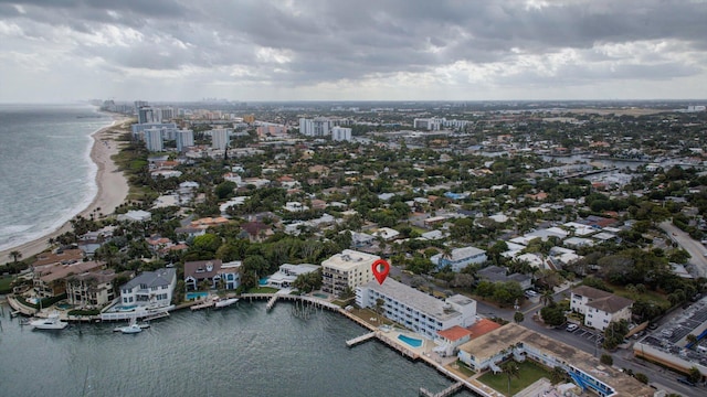
{"type": "Polygon", "coordinates": [[[386,318],[432,340],[439,337],[437,331],[476,322],[476,301],[461,294],[440,300],[392,278],[356,288],[356,304],[361,308],[374,310],[379,299],[386,318]]]}

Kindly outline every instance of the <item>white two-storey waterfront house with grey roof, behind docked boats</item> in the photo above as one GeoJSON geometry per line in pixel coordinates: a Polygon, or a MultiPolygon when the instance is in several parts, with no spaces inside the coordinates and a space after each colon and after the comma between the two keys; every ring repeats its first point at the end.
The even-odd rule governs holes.
{"type": "Polygon", "coordinates": [[[172,301],[176,286],[175,268],[144,271],[120,287],[120,302],[124,307],[167,307],[172,301]]]}

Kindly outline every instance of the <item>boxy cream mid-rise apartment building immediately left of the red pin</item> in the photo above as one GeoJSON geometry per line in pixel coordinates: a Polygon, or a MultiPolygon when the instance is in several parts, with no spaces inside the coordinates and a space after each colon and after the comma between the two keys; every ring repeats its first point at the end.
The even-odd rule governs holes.
{"type": "Polygon", "coordinates": [[[345,249],[321,262],[321,290],[340,296],[347,288],[351,290],[373,280],[371,269],[380,259],[377,255],[345,249]]]}

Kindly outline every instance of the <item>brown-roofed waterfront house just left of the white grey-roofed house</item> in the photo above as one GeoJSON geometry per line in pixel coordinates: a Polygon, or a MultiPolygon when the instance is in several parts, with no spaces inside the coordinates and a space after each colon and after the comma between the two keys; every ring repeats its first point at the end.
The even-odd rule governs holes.
{"type": "Polygon", "coordinates": [[[104,307],[115,299],[113,280],[115,271],[86,271],[66,278],[66,299],[80,308],[104,307]]]}

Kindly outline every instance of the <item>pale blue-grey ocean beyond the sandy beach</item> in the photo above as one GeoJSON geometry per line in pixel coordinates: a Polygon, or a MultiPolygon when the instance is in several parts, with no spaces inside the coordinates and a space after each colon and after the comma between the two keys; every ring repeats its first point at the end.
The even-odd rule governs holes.
{"type": "Polygon", "coordinates": [[[89,105],[0,105],[0,250],[53,232],[91,204],[91,135],[112,122],[89,105]]]}

